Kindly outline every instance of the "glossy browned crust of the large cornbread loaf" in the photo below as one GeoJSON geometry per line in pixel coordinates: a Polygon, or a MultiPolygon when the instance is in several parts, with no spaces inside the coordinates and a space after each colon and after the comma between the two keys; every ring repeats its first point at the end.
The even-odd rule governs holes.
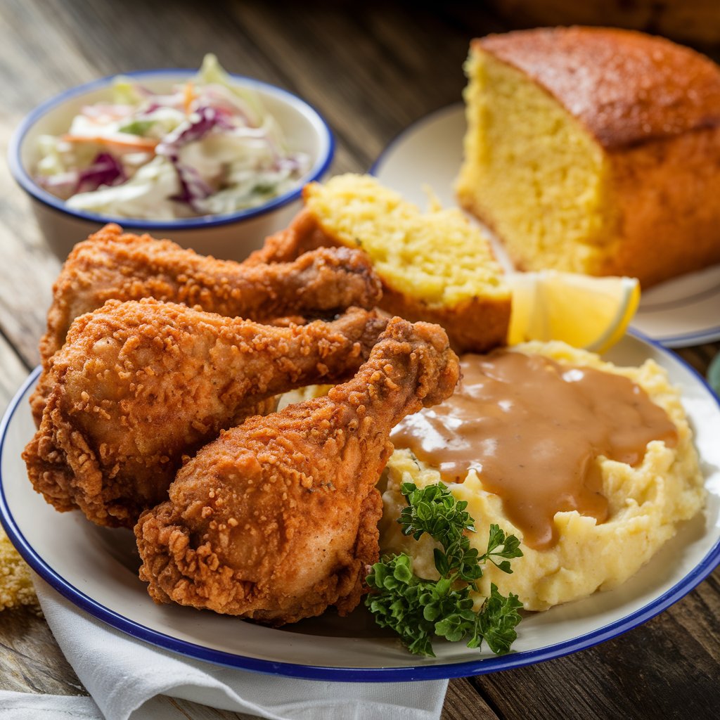
{"type": "MultiPolygon", "coordinates": [[[[649,287],[720,261],[715,63],[661,37],[591,27],[490,35],[472,52],[524,73],[608,159],[610,220],[586,271],[633,275],[649,287]]],[[[469,209],[495,225],[492,208],[480,206],[469,209]]],[[[515,254],[518,266],[532,266],[515,254]]]]}

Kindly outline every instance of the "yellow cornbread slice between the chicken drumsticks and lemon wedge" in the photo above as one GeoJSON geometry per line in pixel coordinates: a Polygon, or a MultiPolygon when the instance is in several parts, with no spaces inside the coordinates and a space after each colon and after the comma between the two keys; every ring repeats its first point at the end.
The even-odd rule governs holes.
{"type": "Polygon", "coordinates": [[[459,351],[505,343],[510,289],[487,238],[460,210],[423,214],[368,175],[311,183],[303,198],[326,240],[369,255],[384,310],[442,325],[459,351]]]}

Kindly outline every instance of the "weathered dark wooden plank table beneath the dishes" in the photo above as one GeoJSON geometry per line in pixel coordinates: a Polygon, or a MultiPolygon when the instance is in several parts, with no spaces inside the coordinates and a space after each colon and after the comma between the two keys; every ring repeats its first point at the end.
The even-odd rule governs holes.
{"type": "MultiPolygon", "coordinates": [[[[119,71],[195,67],[212,50],[230,71],[304,96],[336,132],[333,170],[364,171],[402,128],[459,99],[471,37],[507,29],[463,4],[417,4],[412,11],[411,5],[6,0],[0,9],[0,144],[4,152],[22,116],[63,89],[119,71]]],[[[37,364],[59,268],[5,167],[0,248],[4,407],[37,364]]],[[[719,348],[714,343],[679,354],[704,372],[719,348]]],[[[443,717],[716,717],[719,618],[715,572],[670,610],[613,641],[540,665],[453,680],[443,717]]],[[[0,613],[0,688],[84,692],[45,621],[25,611],[0,613]]],[[[238,717],[176,705],[192,718],[238,717]]]]}

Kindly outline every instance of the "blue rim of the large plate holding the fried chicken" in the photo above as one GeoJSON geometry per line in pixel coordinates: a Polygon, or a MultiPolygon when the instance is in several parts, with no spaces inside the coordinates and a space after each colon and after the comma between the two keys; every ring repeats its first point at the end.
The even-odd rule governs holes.
{"type": "MultiPolygon", "coordinates": [[[[705,388],[708,395],[720,410],[720,399],[716,397],[711,387],[700,373],[696,371],[690,364],[682,358],[667,350],[660,343],[653,341],[651,338],[642,335],[642,333],[629,333],[629,335],[648,343],[657,348],[661,354],[669,356],[671,360],[677,361],[685,369],[690,371],[701,386],[705,388]]],[[[19,403],[27,394],[27,390],[35,382],[40,367],[30,374],[22,386],[19,388],[13,399],[10,401],[8,408],[0,421],[0,459],[5,449],[5,440],[7,428],[19,403]]],[[[27,564],[37,572],[43,580],[48,582],[55,590],[71,601],[74,605],[88,612],[92,616],[99,618],[118,629],[137,639],[143,640],[150,644],[162,647],[164,649],[177,652],[186,657],[195,660],[204,660],[215,665],[223,665],[225,667],[234,667],[238,670],[249,670],[251,672],[261,672],[269,675],[283,675],[289,678],[299,678],[303,680],[333,680],[341,682],[395,682],[410,680],[442,680],[446,678],[463,678],[468,675],[485,675],[488,672],[497,672],[498,670],[510,670],[525,665],[533,665],[536,662],[545,660],[553,660],[557,657],[578,652],[583,649],[593,647],[593,645],[613,639],[637,626],[647,622],[657,614],[666,610],[691,590],[702,582],[720,563],[720,539],[711,547],[705,557],[699,562],[693,570],[690,570],[685,577],[672,586],[660,597],[655,598],[646,606],[639,608],[634,613],[630,613],[619,620],[610,623],[601,628],[595,629],[584,635],[577,636],[565,642],[547,645],[546,647],[529,650],[524,652],[510,652],[505,655],[496,657],[483,657],[478,660],[471,660],[459,663],[442,663],[433,665],[415,665],[408,667],[328,667],[324,665],[301,665],[290,662],[274,662],[272,660],[263,660],[261,658],[246,657],[220,650],[214,650],[192,642],[179,640],[172,636],[166,635],[159,631],[150,629],[137,621],[130,620],[125,616],[115,613],[98,603],[89,595],[78,590],[67,580],[58,575],[35,549],[27,542],[22,531],[17,527],[12,512],[9,509],[5,497],[4,481],[1,474],[0,464],[0,523],[5,528],[9,539],[17,548],[19,554],[25,559],[27,564]]]]}

